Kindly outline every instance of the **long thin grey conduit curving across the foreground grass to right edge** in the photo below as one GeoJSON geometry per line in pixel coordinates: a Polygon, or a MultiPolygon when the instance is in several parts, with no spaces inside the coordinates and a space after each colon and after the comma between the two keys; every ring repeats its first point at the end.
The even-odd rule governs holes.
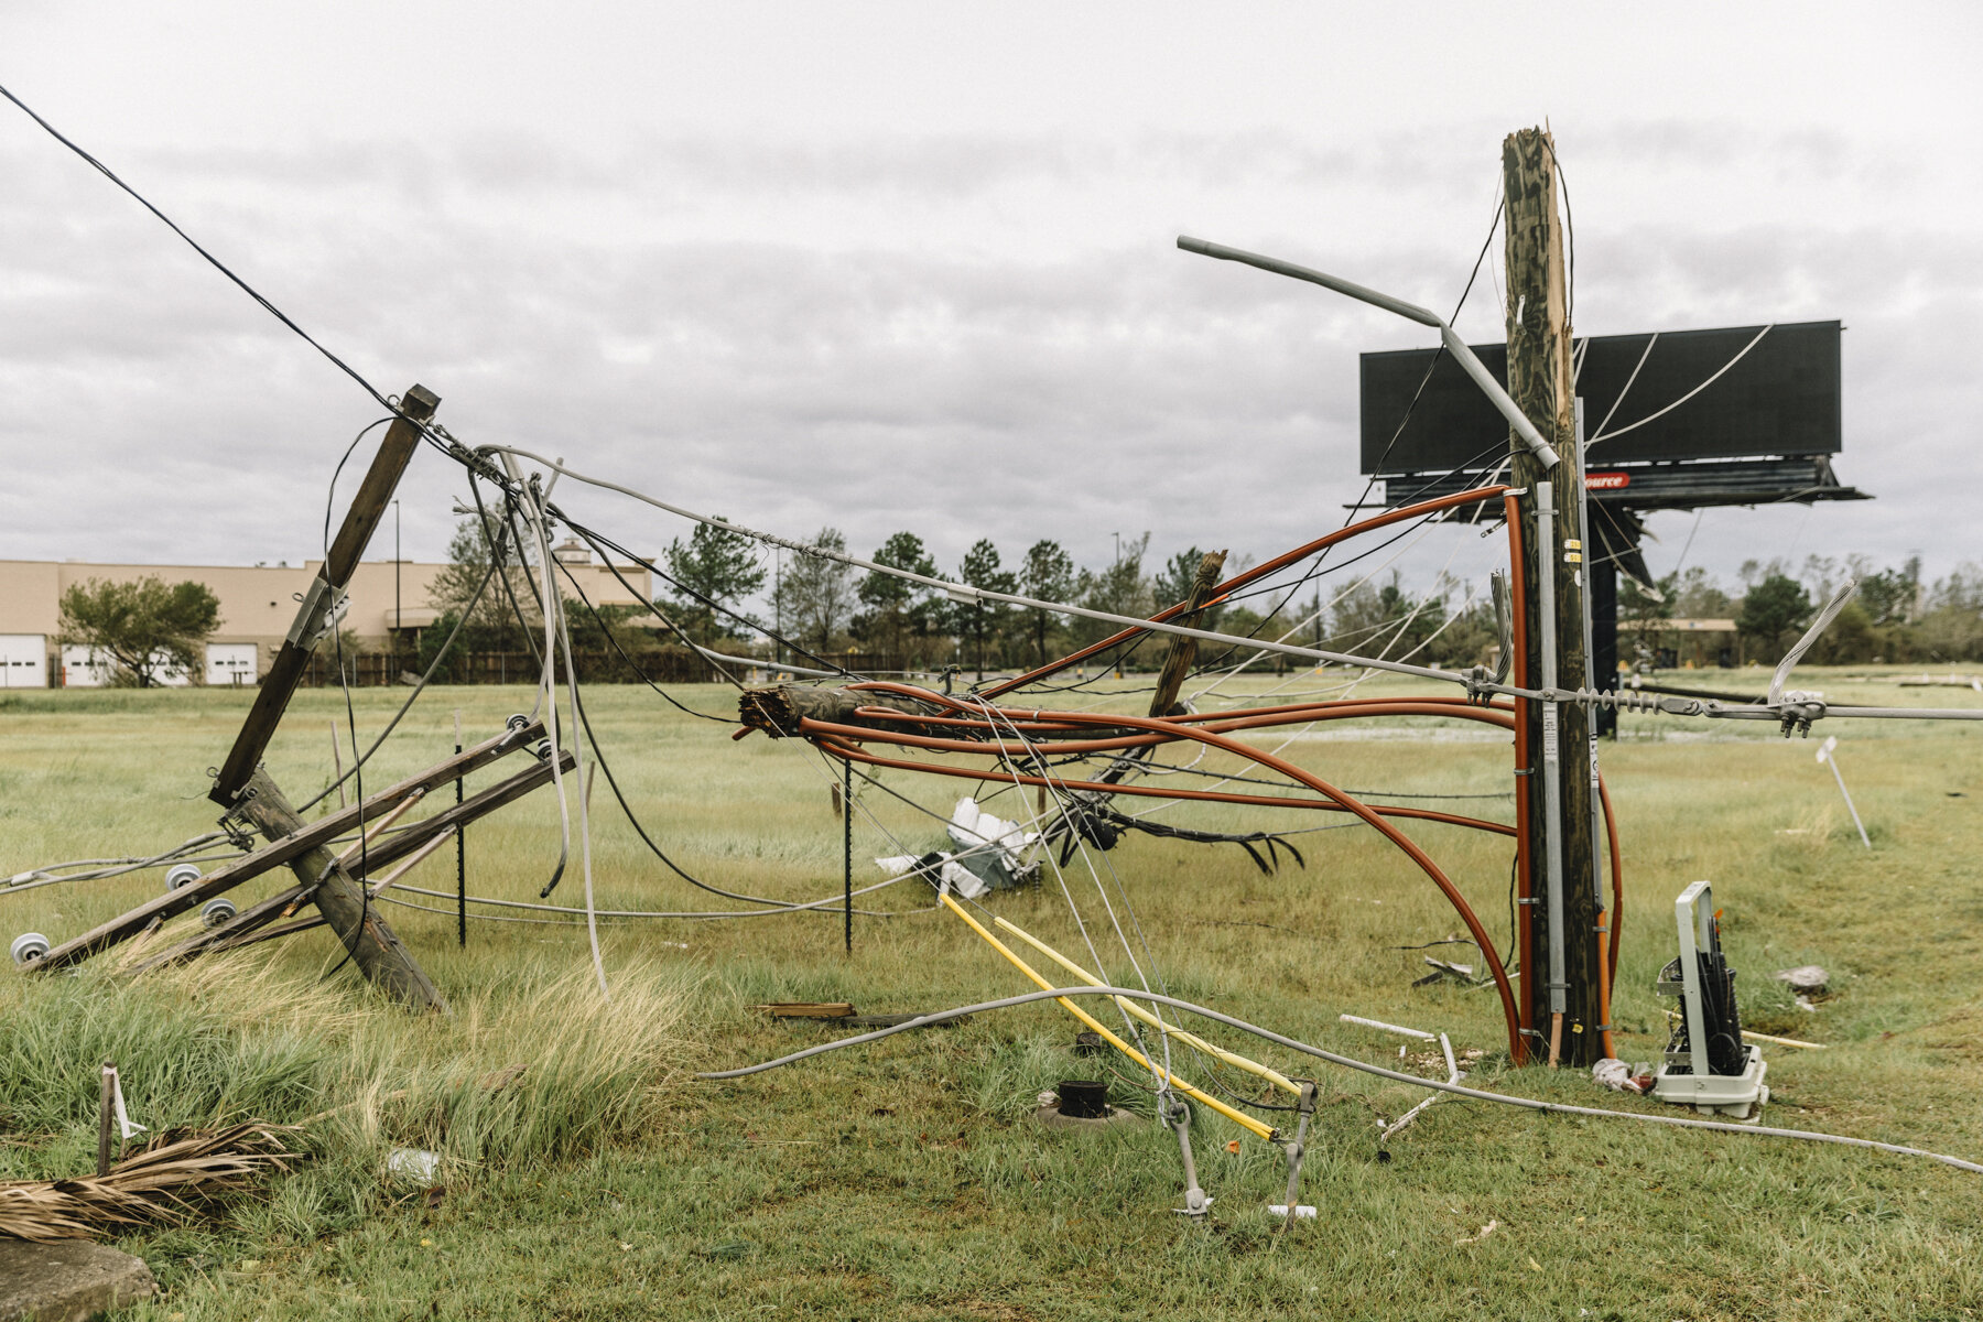
{"type": "Polygon", "coordinates": [[[1842,1148],[1872,1148],[1874,1152],[1892,1152],[1904,1157],[1927,1157],[1929,1161],[1941,1161],[1943,1165],[1953,1165],[1955,1169],[1975,1171],[1983,1175],[1983,1165],[1975,1161],[1963,1161],[1961,1157],[1951,1157],[1939,1152],[1927,1152],[1924,1148],[1906,1148],[1902,1144],[1880,1144],[1870,1138],[1850,1138],[1846,1134],[1818,1134],[1814,1130],[1777,1130],[1755,1124],[1733,1124],[1723,1120],[1688,1120],[1684,1116],[1654,1116],[1636,1110],[1602,1110],[1598,1106],[1571,1106],[1567,1102],[1543,1102],[1539,1098],[1517,1098],[1505,1092],[1487,1092],[1485,1088],[1467,1088],[1463,1084],[1448,1084],[1438,1078],[1420,1078],[1418,1074],[1406,1074],[1402,1070],[1388,1070],[1382,1064],[1370,1064],[1354,1056],[1341,1056],[1333,1050],[1323,1050],[1321,1047],[1311,1047],[1303,1041],[1283,1037],[1273,1029],[1261,1029],[1245,1019],[1235,1019],[1233,1015],[1222,1015],[1220,1011],[1196,1005],[1192,1001],[1180,1001],[1178,997],[1166,997],[1156,991],[1140,991],[1136,987],[1049,987],[1045,991],[1029,991],[1017,997],[1003,997],[997,1001],[980,1001],[978,1005],[960,1005],[948,1011],[936,1011],[910,1019],[908,1023],[894,1025],[892,1029],[876,1029],[873,1033],[861,1033],[857,1037],[843,1037],[837,1043],[821,1043],[819,1047],[807,1047],[805,1050],[795,1050],[789,1056],[779,1056],[775,1060],[763,1060],[759,1064],[746,1064],[734,1070],[710,1070],[696,1074],[704,1080],[728,1080],[746,1078],[750,1074],[761,1074],[765,1070],[775,1070],[785,1064],[797,1064],[809,1056],[819,1056],[829,1050],[841,1050],[843,1047],[865,1047],[867,1043],[892,1037],[896,1033],[908,1033],[912,1029],[926,1029],[938,1023],[950,1023],[952,1019],[962,1019],[964,1015],[982,1015],[986,1011],[1013,1009],[1017,1005],[1033,1005],[1035,1001],[1061,1001],[1067,997],[1134,997],[1138,1001],[1148,1001],[1152,1005],[1168,1005],[1170,1009],[1188,1011],[1192,1015],[1202,1015],[1214,1023],[1222,1023],[1229,1029],[1239,1029],[1241,1033],[1251,1033],[1253,1037],[1273,1043],[1275,1047],[1285,1047],[1289,1050],[1299,1050],[1305,1056],[1315,1056],[1317,1060],[1327,1060],[1329,1064],[1341,1064],[1348,1070],[1360,1070],[1364,1074],[1376,1074],[1378,1078],[1390,1078],[1392,1082],[1412,1084],[1414,1088],[1432,1088],[1434,1092],[1450,1092],[1454,1096],[1473,1098],[1475,1102],[1501,1102],[1503,1106],[1521,1106],[1525,1110],[1541,1110],[1555,1116],[1602,1116],[1606,1120],[1640,1120],[1644,1124],[1668,1124],[1682,1130],[1715,1130],[1719,1134],[1757,1134],[1765,1138],[1801,1138],[1808,1144],[1838,1144],[1842,1148]]]}

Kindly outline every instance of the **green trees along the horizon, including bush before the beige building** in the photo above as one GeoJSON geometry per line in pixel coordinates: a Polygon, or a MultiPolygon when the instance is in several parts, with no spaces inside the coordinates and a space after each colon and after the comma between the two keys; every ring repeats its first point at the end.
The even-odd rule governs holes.
{"type": "MultiPolygon", "coordinates": [[[[847,537],[823,527],[811,541],[821,551],[847,553],[847,537]]],[[[912,531],[888,537],[869,555],[878,565],[928,579],[948,579],[976,589],[1013,593],[1039,601],[1065,601],[1122,616],[1148,616],[1188,597],[1204,551],[1186,547],[1154,559],[1150,533],[1120,543],[1107,565],[1077,565],[1053,539],[1039,539],[1011,561],[990,539],[978,539],[946,571],[912,531]]],[[[520,549],[500,521],[462,521],[448,545],[448,565],[434,579],[430,605],[440,618],[420,632],[418,666],[436,660],[446,682],[450,660],[466,652],[527,654],[541,646],[543,616],[537,591],[545,565],[520,549]],[[498,561],[492,569],[492,557],[498,561]],[[450,658],[438,656],[454,636],[450,658]]],[[[1233,557],[1225,577],[1247,557],[1233,557]]],[[[680,648],[694,640],[718,650],[769,656],[763,630],[791,648],[817,656],[859,652],[863,664],[886,660],[900,670],[960,666],[976,672],[1017,670],[1043,664],[1114,632],[1101,620],[1051,610],[1009,606],[984,599],[952,599],[942,589],[882,573],[865,573],[827,555],[783,553],[767,559],[750,537],[720,523],[696,525],[658,559],[656,606],[587,603],[569,595],[569,579],[551,569],[565,595],[571,644],[581,654],[646,652],[680,648]],[[771,618],[752,610],[765,601],[771,618]]],[[[1634,660],[1634,642],[1670,646],[1680,632],[1660,630],[1662,620],[1733,620],[1753,660],[1775,660],[1808,626],[1822,603],[1848,579],[1860,589],[1812,646],[1812,664],[1878,662],[1977,662],[1983,660],[1983,567],[1957,565],[1927,583],[1922,561],[1876,567],[1862,555],[1834,559],[1810,555],[1801,567],[1745,561],[1737,585],[1725,589],[1705,569],[1693,567],[1660,579],[1656,595],[1630,579],[1620,581],[1618,618],[1622,660],[1634,660]]],[[[1285,638],[1307,646],[1388,656],[1438,666],[1471,666],[1491,660],[1497,644],[1493,612],[1471,585],[1440,577],[1428,593],[1410,591],[1398,573],[1386,579],[1341,581],[1325,577],[1293,589],[1239,593],[1206,608],[1206,628],[1229,634],[1285,638]]],[[[198,674],[198,646],[218,626],[218,601],[200,583],[73,585],[61,597],[61,640],[83,642],[107,654],[117,682],[157,684],[167,668],[198,674]]],[[[345,656],[359,640],[343,634],[345,656]]],[[[688,656],[686,648],[682,654],[688,656]]],[[[1237,664],[1245,648],[1200,648],[1200,666],[1237,664]]],[[[791,660],[791,654],[785,656],[791,660]]],[[[1101,654],[1093,664],[1154,668],[1162,640],[1140,640],[1101,654]]],[[[408,656],[408,660],[412,660],[408,656]]],[[[1267,658],[1283,668],[1285,658],[1267,658]]]]}

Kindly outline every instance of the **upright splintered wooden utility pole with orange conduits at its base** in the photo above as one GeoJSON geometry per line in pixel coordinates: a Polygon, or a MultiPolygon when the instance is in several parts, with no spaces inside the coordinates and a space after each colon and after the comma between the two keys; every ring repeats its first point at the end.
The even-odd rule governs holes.
{"type": "MultiPolygon", "coordinates": [[[[1555,446],[1543,470],[1509,438],[1521,496],[1521,585],[1527,620],[1525,688],[1588,684],[1584,654],[1582,454],[1571,371],[1571,321],[1557,220],[1555,143],[1523,129],[1501,145],[1507,196],[1507,392],[1555,446]]],[[[1602,1056],[1600,878],[1592,850],[1596,741],[1590,714],[1569,702],[1529,702],[1529,957],[1521,969],[1529,1060],[1588,1066],[1602,1056]]]]}

